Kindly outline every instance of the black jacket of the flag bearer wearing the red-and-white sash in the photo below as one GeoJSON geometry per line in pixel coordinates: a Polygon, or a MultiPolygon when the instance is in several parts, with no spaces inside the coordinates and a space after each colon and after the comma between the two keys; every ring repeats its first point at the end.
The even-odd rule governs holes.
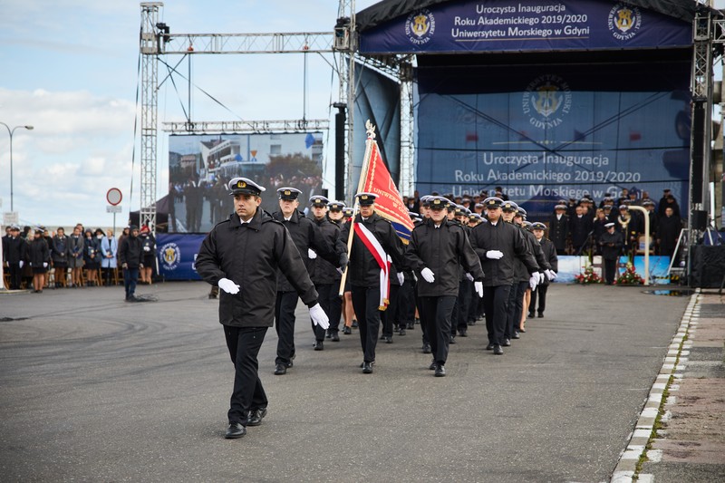
{"type": "MultiPolygon", "coordinates": [[[[395,229],[392,227],[390,221],[377,213],[373,213],[372,217],[368,217],[365,221],[362,221],[360,214],[356,215],[355,223],[362,223],[364,227],[371,231],[380,242],[385,253],[391,257],[392,265],[395,266],[397,271],[400,272],[405,267],[401,238],[395,233],[395,229]]],[[[347,243],[351,225],[352,223],[350,222],[345,223],[340,233],[340,237],[345,243],[347,243]]],[[[367,246],[356,235],[353,236],[353,247],[350,249],[348,257],[350,259],[350,265],[348,266],[347,279],[351,285],[380,286],[380,266],[375,261],[375,258],[372,257],[367,246]]]]}

